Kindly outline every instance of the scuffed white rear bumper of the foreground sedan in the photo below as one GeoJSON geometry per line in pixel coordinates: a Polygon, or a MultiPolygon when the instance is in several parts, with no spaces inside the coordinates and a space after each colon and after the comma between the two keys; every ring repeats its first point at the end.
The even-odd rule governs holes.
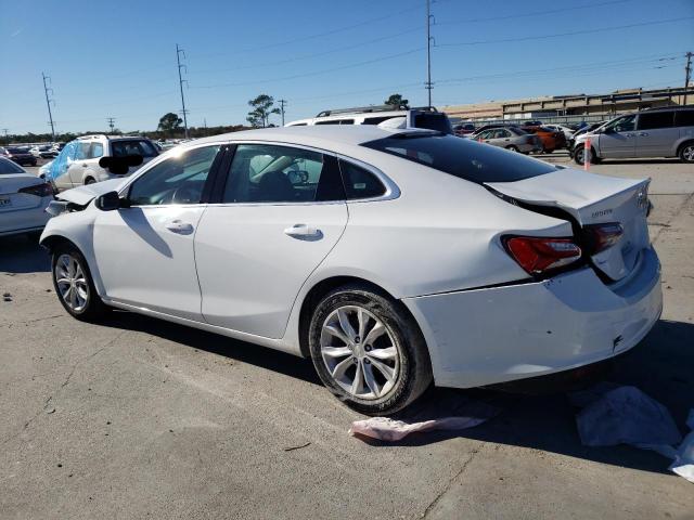
{"type": "Polygon", "coordinates": [[[470,388],[595,363],[634,347],[663,311],[660,265],[607,287],[590,268],[505,287],[402,300],[427,341],[437,386],[470,388]]]}

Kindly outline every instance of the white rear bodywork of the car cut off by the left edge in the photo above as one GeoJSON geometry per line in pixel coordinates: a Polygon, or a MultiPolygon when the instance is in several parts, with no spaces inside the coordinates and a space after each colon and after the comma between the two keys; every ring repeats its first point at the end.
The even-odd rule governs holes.
{"type": "Polygon", "coordinates": [[[17,193],[40,184],[43,181],[30,173],[0,174],[0,235],[38,231],[46,225],[49,220],[46,208],[53,197],[17,193]]]}

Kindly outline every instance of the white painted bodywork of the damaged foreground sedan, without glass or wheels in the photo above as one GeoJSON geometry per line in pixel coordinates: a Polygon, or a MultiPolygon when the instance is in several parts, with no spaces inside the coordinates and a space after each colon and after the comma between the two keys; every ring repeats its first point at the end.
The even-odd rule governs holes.
{"type": "MultiPolygon", "coordinates": [[[[51,219],[41,240],[73,242],[108,304],[298,355],[305,354],[299,322],[309,291],[335,276],[371,282],[410,310],[440,386],[491,385],[600,361],[633,347],[657,321],[659,264],[647,242],[634,245],[634,262],[615,284],[589,266],[532,281],[501,236],[571,236],[570,222],[360,145],[389,133],[309,126],[217,135],[177,148],[261,141],[326,151],[391,179],[398,191],[383,200],[95,208],[95,196],[125,194],[146,167],[113,184],[61,194],[87,207],[51,219]],[[137,218],[124,217],[133,210],[137,218]],[[174,220],[190,222],[192,233],[171,233],[166,223],[174,220]],[[284,234],[294,224],[320,229],[322,236],[284,234]]],[[[619,210],[645,186],[647,181],[557,170],[489,187],[556,205],[584,222],[609,221],[592,216],[608,203],[614,216],[645,225],[645,213],[619,210]]]]}

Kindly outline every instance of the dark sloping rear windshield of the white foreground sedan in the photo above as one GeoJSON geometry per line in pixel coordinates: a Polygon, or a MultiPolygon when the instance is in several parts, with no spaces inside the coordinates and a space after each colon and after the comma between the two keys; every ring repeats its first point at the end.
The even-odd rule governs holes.
{"type": "Polygon", "coordinates": [[[513,182],[556,167],[457,135],[400,133],[362,146],[396,155],[471,182],[513,182]]]}

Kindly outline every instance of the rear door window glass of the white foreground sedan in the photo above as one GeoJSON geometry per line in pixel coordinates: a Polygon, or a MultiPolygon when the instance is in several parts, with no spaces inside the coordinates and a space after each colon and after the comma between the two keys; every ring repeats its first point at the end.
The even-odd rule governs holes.
{"type": "Polygon", "coordinates": [[[344,199],[335,159],[272,144],[236,146],[222,203],[311,203],[344,199]]]}

